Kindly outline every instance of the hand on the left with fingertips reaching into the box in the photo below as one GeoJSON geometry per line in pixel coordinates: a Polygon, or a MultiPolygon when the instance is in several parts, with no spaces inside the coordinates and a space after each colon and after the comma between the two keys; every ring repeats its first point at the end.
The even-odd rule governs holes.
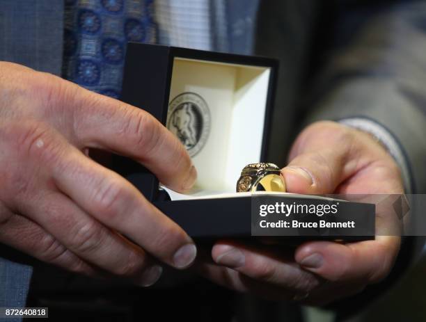
{"type": "Polygon", "coordinates": [[[132,157],[184,191],[196,170],[149,113],[51,74],[0,62],[0,243],[70,271],[148,286],[186,268],[194,242],[123,177],[84,152],[132,157]]]}

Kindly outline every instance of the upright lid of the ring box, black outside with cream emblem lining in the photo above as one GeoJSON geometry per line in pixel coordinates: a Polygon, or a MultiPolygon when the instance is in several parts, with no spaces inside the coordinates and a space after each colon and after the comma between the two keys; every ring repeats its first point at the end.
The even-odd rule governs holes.
{"type": "MultiPolygon", "coordinates": [[[[265,161],[277,69],[271,58],[129,43],[122,99],[180,138],[198,172],[196,195],[208,198],[235,192],[242,168],[265,161]]],[[[121,168],[157,198],[154,175],[121,168]]]]}

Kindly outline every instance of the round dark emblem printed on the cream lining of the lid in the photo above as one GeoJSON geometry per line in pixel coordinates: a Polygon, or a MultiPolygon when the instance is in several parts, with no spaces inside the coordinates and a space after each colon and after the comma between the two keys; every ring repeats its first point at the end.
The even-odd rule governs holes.
{"type": "Polygon", "coordinates": [[[190,156],[203,149],[210,134],[210,110],[194,92],[176,96],[168,106],[167,128],[187,148],[190,156]]]}

